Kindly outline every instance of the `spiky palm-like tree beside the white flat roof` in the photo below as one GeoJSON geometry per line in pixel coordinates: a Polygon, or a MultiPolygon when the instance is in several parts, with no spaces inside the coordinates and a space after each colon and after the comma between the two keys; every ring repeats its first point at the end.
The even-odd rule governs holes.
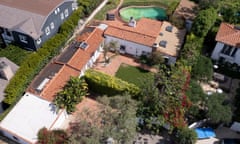
{"type": "Polygon", "coordinates": [[[75,110],[84,96],[88,95],[88,85],[83,78],[71,77],[62,91],[57,94],[54,103],[58,108],[65,108],[68,113],[75,110]]]}

